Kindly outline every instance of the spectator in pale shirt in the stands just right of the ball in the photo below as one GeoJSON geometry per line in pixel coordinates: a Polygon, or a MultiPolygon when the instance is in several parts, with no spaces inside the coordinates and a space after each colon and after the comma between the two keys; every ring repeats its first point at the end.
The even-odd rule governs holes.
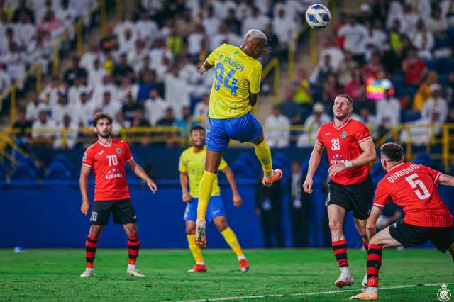
{"type": "Polygon", "coordinates": [[[367,37],[367,28],[356,22],[353,17],[348,18],[348,22],[341,26],[338,35],[345,38],[344,49],[352,52],[353,57],[362,61],[364,59],[365,47],[364,39],[367,37]]]}

